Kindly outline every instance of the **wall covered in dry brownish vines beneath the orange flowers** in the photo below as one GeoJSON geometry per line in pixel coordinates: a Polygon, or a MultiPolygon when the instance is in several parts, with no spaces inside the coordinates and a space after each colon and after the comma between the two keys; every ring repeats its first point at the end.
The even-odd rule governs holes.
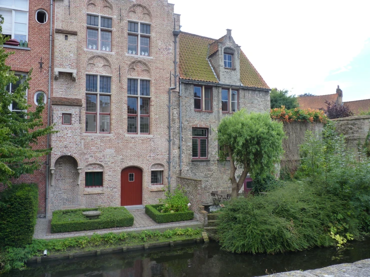
{"type": "Polygon", "coordinates": [[[324,124],[321,122],[283,122],[286,138],[283,139],[284,155],[280,162],[280,168],[295,171],[299,164],[299,145],[304,141],[307,130],[312,132],[321,131],[324,124]]]}

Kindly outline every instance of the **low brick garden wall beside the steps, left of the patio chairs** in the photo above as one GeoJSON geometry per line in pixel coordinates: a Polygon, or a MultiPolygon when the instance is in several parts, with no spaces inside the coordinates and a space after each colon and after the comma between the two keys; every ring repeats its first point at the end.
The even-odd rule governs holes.
{"type": "Polygon", "coordinates": [[[207,200],[207,192],[202,187],[202,180],[177,176],[176,183],[177,186],[181,186],[186,190],[185,195],[189,198],[191,204],[190,209],[194,211],[195,218],[201,223],[206,224],[207,212],[204,211],[204,206],[200,204],[207,200]]]}

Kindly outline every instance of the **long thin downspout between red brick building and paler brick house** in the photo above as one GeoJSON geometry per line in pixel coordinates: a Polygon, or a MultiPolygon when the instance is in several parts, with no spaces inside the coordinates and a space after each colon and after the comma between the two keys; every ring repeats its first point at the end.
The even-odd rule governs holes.
{"type": "MultiPolygon", "coordinates": [[[[53,46],[53,0],[50,2],[50,44],[49,44],[49,86],[48,86],[48,127],[50,126],[50,107],[52,90],[52,46],[53,46]]],[[[47,135],[47,149],[50,147],[50,134],[47,135]]],[[[45,197],[45,216],[48,219],[49,202],[49,154],[46,155],[46,197],[45,197]]]]}

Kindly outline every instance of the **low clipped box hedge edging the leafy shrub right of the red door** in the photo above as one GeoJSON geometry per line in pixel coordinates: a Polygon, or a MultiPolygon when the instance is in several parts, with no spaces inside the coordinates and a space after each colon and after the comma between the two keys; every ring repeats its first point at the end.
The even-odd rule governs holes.
{"type": "Polygon", "coordinates": [[[145,213],[148,214],[157,223],[176,222],[191,220],[194,218],[194,211],[178,211],[178,212],[160,212],[157,208],[162,204],[146,205],[145,213]]]}

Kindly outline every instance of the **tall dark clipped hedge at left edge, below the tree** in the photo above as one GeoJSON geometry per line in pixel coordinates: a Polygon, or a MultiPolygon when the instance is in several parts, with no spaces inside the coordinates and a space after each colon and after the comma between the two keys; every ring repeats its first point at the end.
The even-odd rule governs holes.
{"type": "Polygon", "coordinates": [[[32,243],[39,206],[37,184],[13,184],[0,193],[0,244],[23,247],[32,243]]]}

